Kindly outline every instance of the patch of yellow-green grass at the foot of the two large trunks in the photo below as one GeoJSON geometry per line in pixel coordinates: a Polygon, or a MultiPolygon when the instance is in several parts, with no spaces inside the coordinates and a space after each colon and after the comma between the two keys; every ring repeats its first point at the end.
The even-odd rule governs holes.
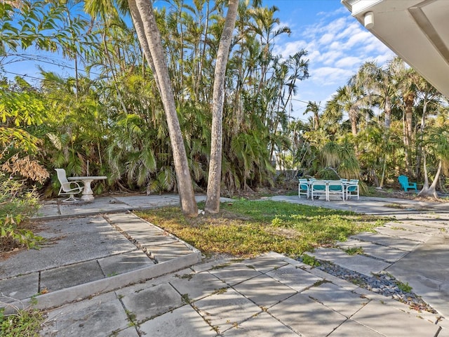
{"type": "MultiPolygon", "coordinates": [[[[203,208],[203,204],[199,205],[203,208]]],[[[197,218],[182,216],[177,207],[136,212],[138,216],[206,254],[254,256],[276,251],[300,256],[318,246],[345,241],[371,231],[379,218],[280,201],[232,201],[220,213],[197,218]]]]}

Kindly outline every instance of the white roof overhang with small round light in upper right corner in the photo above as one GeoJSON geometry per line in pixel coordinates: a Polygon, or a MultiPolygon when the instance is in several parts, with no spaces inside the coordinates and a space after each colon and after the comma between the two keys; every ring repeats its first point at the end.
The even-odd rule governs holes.
{"type": "Polygon", "coordinates": [[[352,16],[449,98],[448,0],[341,0],[352,16]]]}

